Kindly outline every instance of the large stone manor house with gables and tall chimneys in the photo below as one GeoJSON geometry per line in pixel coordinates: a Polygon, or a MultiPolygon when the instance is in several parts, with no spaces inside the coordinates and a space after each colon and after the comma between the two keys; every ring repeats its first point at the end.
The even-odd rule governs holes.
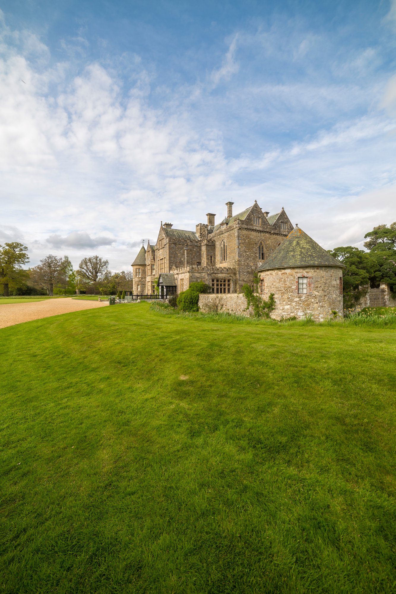
{"type": "Polygon", "coordinates": [[[207,223],[194,231],[173,229],[162,223],[156,245],[142,246],[132,263],[134,294],[152,295],[156,283],[160,295],[169,297],[188,289],[192,282],[204,281],[213,293],[237,293],[252,283],[255,270],[273,254],[293,230],[284,208],[272,214],[257,202],[233,214],[227,202],[227,215],[220,223],[216,214],[207,214],[207,223]],[[156,280],[158,279],[158,280],[156,280]]]}

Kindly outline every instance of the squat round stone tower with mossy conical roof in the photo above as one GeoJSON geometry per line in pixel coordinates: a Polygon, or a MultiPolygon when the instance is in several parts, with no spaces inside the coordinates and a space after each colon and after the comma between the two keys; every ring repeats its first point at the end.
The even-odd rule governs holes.
{"type": "Polygon", "coordinates": [[[316,321],[343,315],[344,264],[296,225],[258,268],[259,294],[274,293],[276,320],[312,315],[316,321]]]}

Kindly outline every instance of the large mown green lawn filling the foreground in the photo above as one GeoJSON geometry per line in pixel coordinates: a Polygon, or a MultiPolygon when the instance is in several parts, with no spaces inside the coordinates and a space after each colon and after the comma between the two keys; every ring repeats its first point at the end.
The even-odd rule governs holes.
{"type": "Polygon", "coordinates": [[[394,330],[142,302],[0,336],[3,592],[395,591],[394,330]]]}

